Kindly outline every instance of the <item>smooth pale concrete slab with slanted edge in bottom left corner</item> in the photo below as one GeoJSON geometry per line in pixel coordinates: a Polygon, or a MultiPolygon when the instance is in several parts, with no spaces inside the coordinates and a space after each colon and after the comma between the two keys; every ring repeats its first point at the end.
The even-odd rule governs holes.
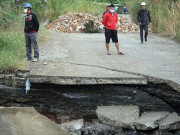
{"type": "Polygon", "coordinates": [[[72,135],[29,107],[0,107],[0,135],[72,135]]]}

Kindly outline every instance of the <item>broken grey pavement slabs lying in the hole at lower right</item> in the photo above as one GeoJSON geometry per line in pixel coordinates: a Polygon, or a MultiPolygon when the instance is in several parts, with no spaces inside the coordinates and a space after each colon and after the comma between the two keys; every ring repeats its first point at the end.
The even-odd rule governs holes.
{"type": "Polygon", "coordinates": [[[139,116],[139,111],[138,106],[99,106],[96,113],[102,123],[125,129],[180,130],[180,116],[175,112],[144,112],[139,116]]]}

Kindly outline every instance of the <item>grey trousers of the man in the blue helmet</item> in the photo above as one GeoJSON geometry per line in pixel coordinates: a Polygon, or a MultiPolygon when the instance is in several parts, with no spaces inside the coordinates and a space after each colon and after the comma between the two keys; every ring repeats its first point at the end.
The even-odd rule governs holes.
{"type": "Polygon", "coordinates": [[[27,59],[32,59],[32,46],[34,49],[34,58],[39,59],[39,47],[37,44],[37,34],[34,33],[25,33],[26,40],[26,56],[27,59]]]}

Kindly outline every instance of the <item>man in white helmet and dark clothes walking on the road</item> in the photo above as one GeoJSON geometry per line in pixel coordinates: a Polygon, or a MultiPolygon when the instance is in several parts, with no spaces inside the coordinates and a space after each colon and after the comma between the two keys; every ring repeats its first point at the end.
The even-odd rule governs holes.
{"type": "Polygon", "coordinates": [[[151,24],[151,16],[149,11],[146,9],[146,3],[141,3],[141,9],[138,12],[137,20],[140,26],[140,37],[141,37],[141,44],[143,44],[143,29],[145,30],[145,42],[147,42],[147,35],[148,35],[148,22],[151,24]]]}

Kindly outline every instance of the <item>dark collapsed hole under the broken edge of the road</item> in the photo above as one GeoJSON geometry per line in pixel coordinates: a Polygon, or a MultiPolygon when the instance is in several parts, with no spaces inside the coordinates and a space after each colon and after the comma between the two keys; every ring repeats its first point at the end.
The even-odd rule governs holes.
{"type": "Polygon", "coordinates": [[[85,122],[91,122],[97,119],[97,106],[137,105],[141,113],[145,111],[174,112],[171,102],[164,101],[164,97],[162,100],[157,95],[162,94],[162,90],[166,94],[169,91],[171,96],[177,95],[169,88],[162,89],[154,85],[31,85],[28,95],[25,94],[24,88],[0,89],[0,105],[34,107],[39,113],[58,124],[81,118],[85,122]]]}

